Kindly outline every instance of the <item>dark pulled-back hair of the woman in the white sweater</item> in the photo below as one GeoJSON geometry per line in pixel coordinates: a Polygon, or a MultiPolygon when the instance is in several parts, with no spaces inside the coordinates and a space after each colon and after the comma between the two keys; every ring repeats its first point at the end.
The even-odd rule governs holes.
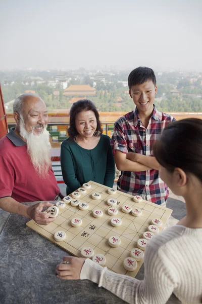
{"type": "Polygon", "coordinates": [[[154,156],[168,171],[181,168],[202,182],[202,120],[187,118],[169,124],[155,142],[154,156]]]}

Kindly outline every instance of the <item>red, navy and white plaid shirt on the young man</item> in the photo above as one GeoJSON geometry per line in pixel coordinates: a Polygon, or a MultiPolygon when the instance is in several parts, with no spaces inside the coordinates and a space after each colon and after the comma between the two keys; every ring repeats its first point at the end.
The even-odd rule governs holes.
{"type": "MultiPolygon", "coordinates": [[[[120,150],[127,154],[129,151],[146,156],[154,156],[153,145],[161,131],[171,122],[172,116],[160,112],[154,105],[153,115],[145,128],[138,116],[137,108],[119,118],[114,125],[111,139],[113,153],[120,150]]],[[[122,171],[117,182],[118,189],[130,195],[139,194],[144,200],[162,205],[168,198],[168,186],[159,177],[155,169],[130,172],[122,171]]]]}

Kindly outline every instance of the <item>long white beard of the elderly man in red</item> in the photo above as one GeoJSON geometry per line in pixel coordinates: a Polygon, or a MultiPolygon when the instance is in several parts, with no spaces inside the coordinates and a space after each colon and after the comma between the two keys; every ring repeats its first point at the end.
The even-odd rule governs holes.
{"type": "Polygon", "coordinates": [[[49,133],[46,130],[47,125],[39,135],[35,135],[33,133],[34,128],[35,127],[32,128],[30,133],[27,132],[23,117],[20,116],[20,135],[26,140],[27,153],[37,174],[45,178],[47,176],[48,169],[51,167],[51,143],[49,142],[49,133]]]}

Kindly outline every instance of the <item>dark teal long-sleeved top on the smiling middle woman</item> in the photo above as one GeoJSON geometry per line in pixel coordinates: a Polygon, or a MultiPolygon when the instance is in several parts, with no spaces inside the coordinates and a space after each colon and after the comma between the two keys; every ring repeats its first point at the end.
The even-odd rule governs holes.
{"type": "Polygon", "coordinates": [[[61,168],[67,195],[89,180],[113,187],[115,163],[110,137],[102,134],[96,147],[90,150],[68,137],[61,145],[61,168]]]}

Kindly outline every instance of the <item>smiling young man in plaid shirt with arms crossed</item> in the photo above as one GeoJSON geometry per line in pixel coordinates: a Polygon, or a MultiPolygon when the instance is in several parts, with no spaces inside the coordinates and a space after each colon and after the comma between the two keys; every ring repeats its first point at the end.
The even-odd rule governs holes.
{"type": "Polygon", "coordinates": [[[111,145],[117,169],[121,171],[118,189],[165,206],[168,187],[159,177],[153,145],[161,131],[175,119],[154,105],[156,84],[151,68],[138,67],[129,74],[129,95],[136,107],[115,122],[111,145]]]}

